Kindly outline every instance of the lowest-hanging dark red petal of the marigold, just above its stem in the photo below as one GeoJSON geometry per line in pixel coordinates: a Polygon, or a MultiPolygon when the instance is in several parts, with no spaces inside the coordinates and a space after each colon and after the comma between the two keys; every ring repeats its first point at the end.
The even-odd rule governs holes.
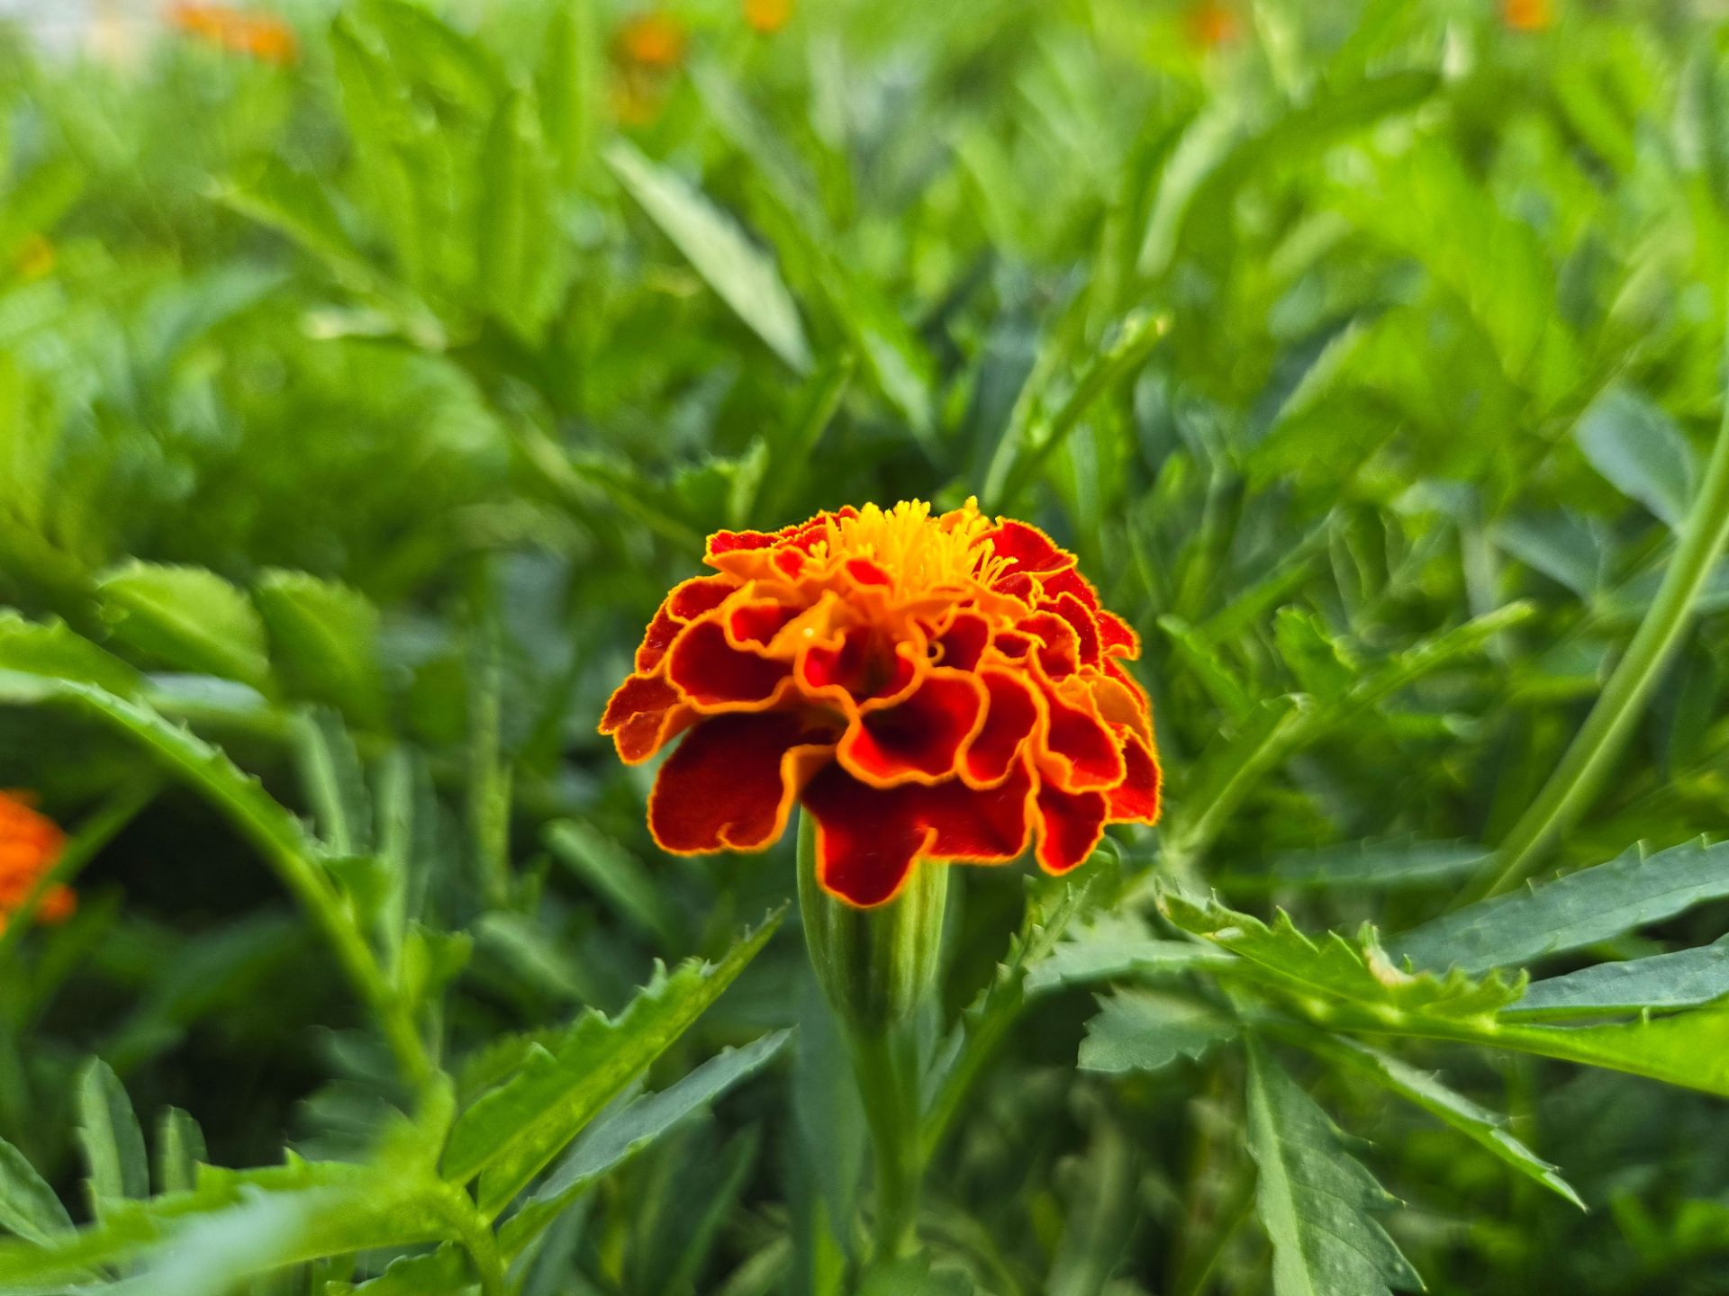
{"type": "Polygon", "coordinates": [[[892,900],[935,836],[913,814],[911,786],[871,788],[828,766],[804,788],[816,817],[816,880],[856,905],[892,900]]]}

